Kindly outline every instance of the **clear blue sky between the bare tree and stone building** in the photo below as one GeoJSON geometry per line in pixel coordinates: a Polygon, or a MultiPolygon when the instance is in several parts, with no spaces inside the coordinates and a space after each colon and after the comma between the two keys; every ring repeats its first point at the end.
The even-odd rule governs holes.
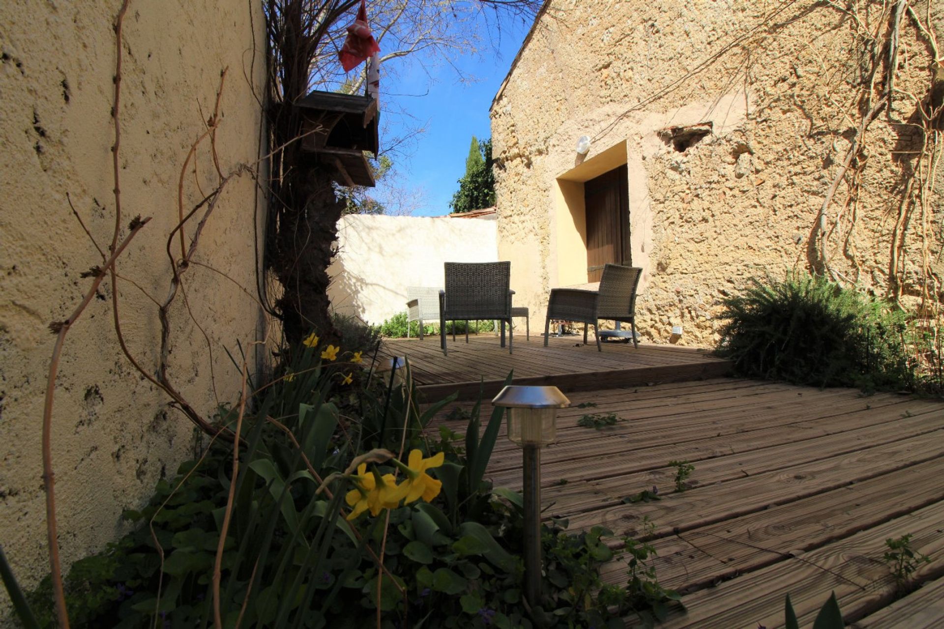
{"type": "MultiPolygon", "coordinates": [[[[392,185],[398,193],[412,195],[413,216],[448,213],[448,202],[459,189],[456,181],[465,171],[469,141],[473,135],[491,137],[488,109],[531,24],[506,19],[500,36],[494,24],[488,28],[480,20],[479,26],[480,54],[453,61],[474,81],[462,79],[445,62],[432,65],[425,58],[404,58],[396,76],[381,74],[381,149],[410,129],[424,129],[391,155],[396,167],[392,185]]],[[[377,195],[388,192],[381,182],[377,195]]]]}

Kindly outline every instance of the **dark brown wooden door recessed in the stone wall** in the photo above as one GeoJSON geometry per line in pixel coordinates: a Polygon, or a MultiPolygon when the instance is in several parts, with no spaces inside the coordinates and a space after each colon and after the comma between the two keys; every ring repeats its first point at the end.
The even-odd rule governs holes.
{"type": "Polygon", "coordinates": [[[627,174],[623,165],[583,184],[588,282],[599,281],[607,262],[632,266],[627,174]]]}

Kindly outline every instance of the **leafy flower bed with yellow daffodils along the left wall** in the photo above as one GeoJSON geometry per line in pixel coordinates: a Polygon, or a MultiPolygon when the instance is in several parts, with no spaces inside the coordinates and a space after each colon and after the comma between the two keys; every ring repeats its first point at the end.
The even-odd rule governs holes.
{"type": "MultiPolygon", "coordinates": [[[[453,400],[419,409],[409,364],[392,387],[363,354],[312,334],[225,406],[238,448],[211,442],[126,511],[131,533],[74,564],[72,626],[563,629],[664,614],[675,595],[640,567],[646,545],[626,541],[645,552],[625,586],[604,589],[610,533],[563,521],[542,535],[545,599],[525,604],[523,501],[484,477],[501,409],[480,418],[476,404],[464,435],[434,441],[426,428],[453,400]]],[[[51,598],[48,579],[28,595],[43,627],[51,598]]]]}

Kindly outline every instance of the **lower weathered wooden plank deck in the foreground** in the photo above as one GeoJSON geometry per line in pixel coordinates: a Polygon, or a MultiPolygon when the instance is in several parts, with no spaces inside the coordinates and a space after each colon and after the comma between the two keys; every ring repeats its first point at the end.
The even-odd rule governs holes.
{"type": "MultiPolygon", "coordinates": [[[[435,348],[431,340],[424,342],[435,348]]],[[[587,359],[585,349],[554,351],[587,359]]],[[[632,348],[603,354],[618,360],[610,355],[632,356],[632,348]]],[[[638,356],[675,354],[647,348],[638,356]]],[[[543,455],[545,513],[568,518],[572,530],[599,524],[652,540],[659,582],[683,592],[686,607],[661,626],[783,627],[789,593],[809,627],[830,591],[855,627],[944,626],[941,402],[728,378],[568,397],[558,442],[543,455]],[[597,406],[576,407],[582,403],[597,406]],[[584,413],[625,421],[583,428],[584,413]],[[673,459],[696,468],[681,493],[667,466],[673,459]],[[623,503],[653,487],[661,500],[623,503]],[[654,526],[648,535],[647,520],[654,526]],[[896,603],[882,557],[886,538],[907,533],[932,562],[917,572],[927,585],[896,603]]],[[[487,404],[484,412],[487,418],[487,404]]],[[[464,423],[437,422],[457,432],[464,423]]],[[[502,434],[489,468],[497,486],[520,487],[520,460],[502,434]]],[[[604,571],[613,583],[624,576],[620,560],[604,571]]]]}

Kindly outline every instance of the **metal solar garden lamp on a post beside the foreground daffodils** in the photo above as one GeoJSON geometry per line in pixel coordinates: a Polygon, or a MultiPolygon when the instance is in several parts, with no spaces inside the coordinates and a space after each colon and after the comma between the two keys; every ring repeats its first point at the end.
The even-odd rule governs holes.
{"type": "Polygon", "coordinates": [[[570,400],[557,387],[509,386],[492,404],[508,408],[508,439],[523,452],[525,597],[535,606],[541,604],[541,447],[557,437],[557,409],[570,400]]]}

